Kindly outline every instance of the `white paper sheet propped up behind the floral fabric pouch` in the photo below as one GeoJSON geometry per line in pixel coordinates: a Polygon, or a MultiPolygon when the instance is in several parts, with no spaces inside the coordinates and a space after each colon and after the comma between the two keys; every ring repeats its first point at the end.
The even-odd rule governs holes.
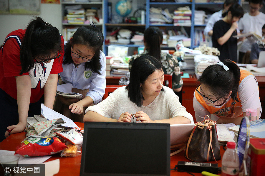
{"type": "Polygon", "coordinates": [[[68,117],[54,111],[53,109],[50,109],[50,108],[44,106],[44,104],[41,104],[41,105],[42,105],[42,115],[47,120],[62,118],[66,122],[66,123],[62,124],[62,126],[71,127],[71,128],[77,127],[77,125],[74,123],[74,121],[72,121],[68,117]]]}

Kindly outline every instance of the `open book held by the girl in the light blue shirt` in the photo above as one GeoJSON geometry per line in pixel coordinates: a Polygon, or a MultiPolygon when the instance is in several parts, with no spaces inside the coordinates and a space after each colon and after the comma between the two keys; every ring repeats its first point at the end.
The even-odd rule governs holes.
{"type": "Polygon", "coordinates": [[[64,98],[83,99],[82,94],[72,92],[72,84],[71,83],[58,85],[56,94],[61,95],[64,98]]]}

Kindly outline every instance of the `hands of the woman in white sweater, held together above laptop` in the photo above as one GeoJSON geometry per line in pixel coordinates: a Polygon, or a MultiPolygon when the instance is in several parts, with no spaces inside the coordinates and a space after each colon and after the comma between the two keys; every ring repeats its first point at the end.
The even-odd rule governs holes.
{"type": "Polygon", "coordinates": [[[152,123],[153,121],[149,118],[149,116],[143,112],[143,111],[138,111],[134,115],[130,114],[128,112],[122,113],[120,115],[120,118],[118,119],[118,122],[132,122],[134,121],[134,118],[136,118],[137,123],[152,123]],[[133,119],[132,119],[133,118],[133,119]]]}

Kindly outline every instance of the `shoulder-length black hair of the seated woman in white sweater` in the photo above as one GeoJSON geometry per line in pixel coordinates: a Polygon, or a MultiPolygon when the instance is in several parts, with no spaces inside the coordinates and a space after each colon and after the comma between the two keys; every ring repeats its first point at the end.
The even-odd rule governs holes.
{"type": "MultiPolygon", "coordinates": [[[[145,80],[156,70],[163,71],[163,68],[162,63],[153,56],[143,55],[137,57],[132,63],[130,83],[126,86],[130,101],[138,107],[142,107],[145,99],[141,93],[140,84],[144,84],[145,80]]],[[[164,91],[164,89],[162,88],[161,91],[164,91]]]]}

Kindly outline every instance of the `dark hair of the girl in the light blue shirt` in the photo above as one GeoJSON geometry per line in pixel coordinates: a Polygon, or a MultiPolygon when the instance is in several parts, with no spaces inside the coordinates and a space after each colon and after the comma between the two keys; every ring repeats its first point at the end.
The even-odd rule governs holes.
{"type": "Polygon", "coordinates": [[[95,26],[81,26],[75,31],[72,40],[69,40],[65,45],[63,64],[74,63],[71,55],[72,45],[86,45],[87,47],[91,47],[95,54],[91,62],[85,63],[85,68],[100,74],[100,69],[102,67],[100,64],[100,50],[103,45],[103,40],[104,37],[99,28],[95,26]]]}

